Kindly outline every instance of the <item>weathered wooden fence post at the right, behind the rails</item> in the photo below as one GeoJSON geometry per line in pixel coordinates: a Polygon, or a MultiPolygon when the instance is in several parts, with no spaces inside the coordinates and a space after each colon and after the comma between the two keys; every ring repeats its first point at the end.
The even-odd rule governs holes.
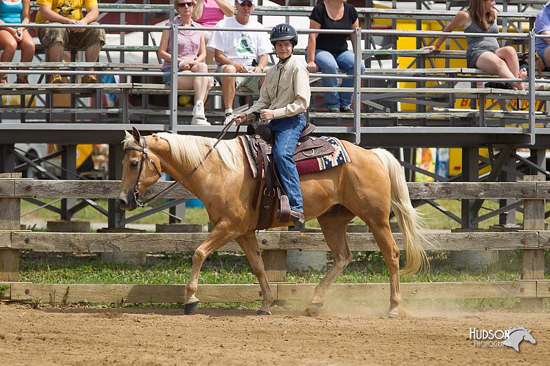
{"type": "MultiPolygon", "coordinates": [[[[544,176],[526,175],[524,181],[543,181],[544,176]]],[[[523,229],[544,230],[544,199],[526,199],[523,207],[523,229]]],[[[544,249],[522,249],[521,279],[544,279],[544,249]]],[[[522,307],[542,307],[542,297],[521,298],[522,307]]]]}

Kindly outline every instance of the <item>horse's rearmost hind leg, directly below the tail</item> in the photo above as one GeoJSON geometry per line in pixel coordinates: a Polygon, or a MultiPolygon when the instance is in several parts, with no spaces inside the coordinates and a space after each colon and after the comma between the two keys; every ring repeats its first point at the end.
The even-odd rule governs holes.
{"type": "Polygon", "coordinates": [[[399,248],[397,248],[391,233],[390,223],[384,215],[370,220],[369,218],[362,219],[369,225],[382,256],[384,256],[384,262],[386,262],[386,266],[390,271],[390,308],[388,309],[388,315],[397,317],[397,308],[399,308],[401,302],[401,295],[399,294],[399,248]]]}

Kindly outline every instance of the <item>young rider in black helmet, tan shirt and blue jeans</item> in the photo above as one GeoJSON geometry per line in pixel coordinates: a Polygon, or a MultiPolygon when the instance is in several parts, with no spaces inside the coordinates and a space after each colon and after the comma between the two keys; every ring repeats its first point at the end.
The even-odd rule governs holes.
{"type": "Polygon", "coordinates": [[[298,34],[292,25],[283,23],[273,27],[270,41],[275,46],[279,62],[267,71],[259,100],[236,115],[234,122],[239,125],[258,111],[264,121],[270,121],[275,139],[273,159],[288,196],[290,218],[295,225],[303,225],[305,217],[300,178],[292,154],[305,127],[304,112],[311,97],[309,74],[304,65],[292,58],[298,43],[298,34]]]}

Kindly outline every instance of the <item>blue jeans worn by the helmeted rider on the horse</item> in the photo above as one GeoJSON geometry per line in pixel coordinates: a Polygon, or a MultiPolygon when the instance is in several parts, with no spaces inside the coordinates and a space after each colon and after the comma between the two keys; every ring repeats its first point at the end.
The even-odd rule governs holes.
{"type": "Polygon", "coordinates": [[[305,115],[300,113],[293,117],[272,119],[270,130],[275,137],[273,147],[273,159],[281,176],[283,190],[287,193],[290,209],[303,212],[302,190],[300,189],[300,178],[296,170],[296,162],[292,154],[300,138],[300,133],[305,127],[305,115]]]}

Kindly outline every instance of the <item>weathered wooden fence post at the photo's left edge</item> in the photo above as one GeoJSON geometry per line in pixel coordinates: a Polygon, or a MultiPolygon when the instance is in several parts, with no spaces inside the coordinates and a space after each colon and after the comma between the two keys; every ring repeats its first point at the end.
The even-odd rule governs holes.
{"type": "MultiPolygon", "coordinates": [[[[0,179],[21,178],[21,173],[0,173],[0,179]]],[[[0,230],[21,230],[19,198],[0,197],[0,230]]],[[[0,281],[19,281],[19,251],[0,248],[0,281]]]]}

